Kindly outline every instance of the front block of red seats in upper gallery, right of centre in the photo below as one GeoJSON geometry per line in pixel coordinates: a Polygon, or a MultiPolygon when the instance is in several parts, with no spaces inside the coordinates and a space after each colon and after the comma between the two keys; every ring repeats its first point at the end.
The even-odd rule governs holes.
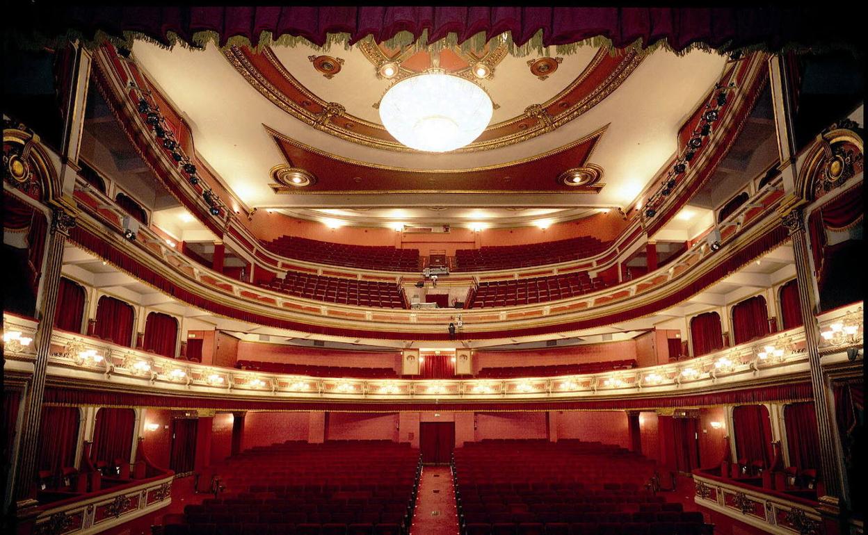
{"type": "Polygon", "coordinates": [[[545,303],[602,290],[610,284],[585,272],[479,283],[471,309],[545,303]]]}

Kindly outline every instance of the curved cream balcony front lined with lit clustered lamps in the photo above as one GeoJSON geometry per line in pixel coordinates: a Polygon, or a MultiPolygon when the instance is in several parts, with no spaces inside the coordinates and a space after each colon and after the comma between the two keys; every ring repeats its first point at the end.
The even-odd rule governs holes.
{"type": "MultiPolygon", "coordinates": [[[[862,317],[861,303],[819,316],[821,332],[838,325],[855,327],[847,342],[822,346],[828,354],[826,359],[845,361],[845,347],[861,347],[862,317]]],[[[19,316],[4,316],[3,323],[4,332],[32,337],[36,331],[33,320],[19,316]]],[[[177,361],[56,330],[48,373],[168,395],[229,395],[240,400],[599,400],[691,394],[756,382],[805,379],[808,362],[804,347],[805,330],[797,328],[706,356],[628,371],[498,380],[353,379],[251,372],[177,361]]],[[[27,373],[34,357],[32,351],[32,344],[7,347],[5,369],[27,373]]]]}

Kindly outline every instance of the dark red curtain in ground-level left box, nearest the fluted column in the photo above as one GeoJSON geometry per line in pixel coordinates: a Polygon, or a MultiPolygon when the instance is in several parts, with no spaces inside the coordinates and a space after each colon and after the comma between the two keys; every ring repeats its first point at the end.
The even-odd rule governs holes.
{"type": "Polygon", "coordinates": [[[43,407],[39,424],[36,471],[59,473],[76,464],[79,414],[77,407],[43,407]]]}

